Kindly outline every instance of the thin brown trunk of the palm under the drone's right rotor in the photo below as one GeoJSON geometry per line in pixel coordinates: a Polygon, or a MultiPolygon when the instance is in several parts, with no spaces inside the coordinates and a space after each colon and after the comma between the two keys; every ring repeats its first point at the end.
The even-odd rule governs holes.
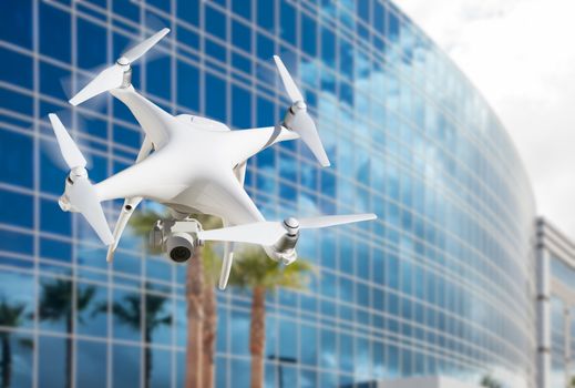
{"type": "Polygon", "coordinates": [[[254,287],[249,353],[251,354],[251,388],[264,386],[264,350],[266,348],[266,288],[254,287]]]}

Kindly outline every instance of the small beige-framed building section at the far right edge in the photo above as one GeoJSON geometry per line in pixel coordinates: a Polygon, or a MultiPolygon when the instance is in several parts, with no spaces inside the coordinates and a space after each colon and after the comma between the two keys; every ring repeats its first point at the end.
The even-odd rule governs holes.
{"type": "Polygon", "coordinates": [[[575,244],[537,219],[537,387],[575,381],[575,244]]]}

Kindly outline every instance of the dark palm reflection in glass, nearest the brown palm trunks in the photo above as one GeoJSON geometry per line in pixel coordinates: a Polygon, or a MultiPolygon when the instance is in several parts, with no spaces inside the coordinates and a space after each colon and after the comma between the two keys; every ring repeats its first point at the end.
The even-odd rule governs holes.
{"type": "MultiPolygon", "coordinates": [[[[131,326],[135,330],[140,329],[142,318],[144,318],[145,388],[150,387],[150,378],[152,377],[152,333],[161,326],[172,325],[172,316],[170,316],[170,314],[161,315],[165,303],[166,298],[163,296],[145,294],[145,317],[142,317],[140,295],[127,295],[122,302],[116,302],[112,305],[113,314],[124,323],[124,325],[131,326]]],[[[106,306],[102,305],[101,310],[105,309],[106,306]]]]}

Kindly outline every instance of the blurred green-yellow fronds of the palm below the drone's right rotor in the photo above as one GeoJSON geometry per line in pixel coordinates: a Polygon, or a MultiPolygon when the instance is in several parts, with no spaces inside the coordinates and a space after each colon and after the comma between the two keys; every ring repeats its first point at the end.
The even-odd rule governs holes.
{"type": "Polygon", "coordinates": [[[302,258],[285,266],[270,259],[260,247],[249,247],[238,253],[229,284],[239,288],[263,286],[269,292],[277,287],[305,289],[314,272],[314,266],[302,258]]]}

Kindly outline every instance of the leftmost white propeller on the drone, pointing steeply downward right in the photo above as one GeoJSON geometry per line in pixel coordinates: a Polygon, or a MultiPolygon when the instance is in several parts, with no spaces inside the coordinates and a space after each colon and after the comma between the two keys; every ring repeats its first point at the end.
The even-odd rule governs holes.
{"type": "Polygon", "coordinates": [[[88,180],[88,172],[85,170],[86,161],[82,152],[72,137],[70,137],[70,134],[60,119],[53,113],[50,113],[49,118],[62,157],[71,170],[65,195],[64,198],[61,200],[62,205],[81,213],[104,244],[113,244],[114,238],[107,226],[104,211],[102,210],[94,186],[88,180]]]}

